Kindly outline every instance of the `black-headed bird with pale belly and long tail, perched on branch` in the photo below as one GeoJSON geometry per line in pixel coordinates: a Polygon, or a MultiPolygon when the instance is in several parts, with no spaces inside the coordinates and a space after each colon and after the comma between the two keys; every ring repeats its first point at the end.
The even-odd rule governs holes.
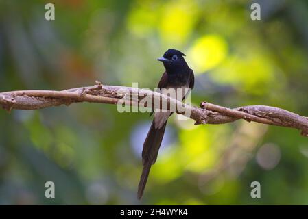
{"type": "MultiPolygon", "coordinates": [[[[161,77],[161,81],[158,83],[158,88],[182,89],[183,92],[185,92],[185,88],[193,88],[193,70],[189,68],[183,56],[185,54],[176,49],[168,49],[163,57],[158,58],[158,61],[163,62],[166,69],[161,77]]],[[[182,99],[185,99],[186,94],[185,92],[183,95],[178,95],[176,99],[182,101],[182,99]]],[[[138,186],[138,199],[143,195],[151,166],[156,161],[158,150],[165,133],[167,119],[170,115],[171,112],[154,112],[154,120],[143,144],[143,170],[138,186]]]]}

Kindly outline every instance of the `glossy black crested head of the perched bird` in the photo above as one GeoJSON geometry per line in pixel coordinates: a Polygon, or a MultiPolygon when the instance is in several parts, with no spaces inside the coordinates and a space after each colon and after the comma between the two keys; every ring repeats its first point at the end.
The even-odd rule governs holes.
{"type": "Polygon", "coordinates": [[[167,73],[173,74],[189,68],[183,56],[185,56],[185,54],[181,51],[168,49],[163,57],[160,57],[157,60],[163,62],[167,73]]]}

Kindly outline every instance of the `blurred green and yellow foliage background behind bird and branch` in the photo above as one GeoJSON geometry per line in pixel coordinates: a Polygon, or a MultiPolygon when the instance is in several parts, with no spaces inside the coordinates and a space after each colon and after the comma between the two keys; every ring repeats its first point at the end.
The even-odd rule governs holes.
{"type": "MultiPolygon", "coordinates": [[[[0,91],[105,84],[155,88],[165,50],[186,53],[194,105],[273,105],[308,115],[308,3],[0,1],[0,91]],[[56,20],[45,20],[54,3],[56,20]],[[261,5],[261,21],[250,5],[261,5]]],[[[308,140],[237,121],[169,119],[141,202],[148,114],[114,105],[0,111],[0,204],[308,204],[308,140]],[[56,198],[45,198],[54,181],[56,198]],[[261,198],[250,183],[261,183],[261,198]]]]}

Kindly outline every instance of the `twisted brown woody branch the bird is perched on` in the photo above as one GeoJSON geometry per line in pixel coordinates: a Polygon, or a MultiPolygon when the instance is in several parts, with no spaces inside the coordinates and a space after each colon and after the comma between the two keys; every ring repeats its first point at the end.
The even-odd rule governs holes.
{"type": "MultiPolygon", "coordinates": [[[[11,92],[0,92],[0,105],[9,112],[16,110],[38,110],[46,107],[70,105],[71,103],[90,102],[117,104],[122,100],[128,105],[137,106],[144,96],[153,96],[154,100],[167,105],[182,106],[189,117],[196,120],[198,124],[223,124],[232,123],[238,119],[248,122],[254,121],[268,125],[291,127],[301,130],[303,136],[308,137],[308,118],[278,107],[265,105],[250,105],[230,109],[212,103],[201,103],[201,107],[191,107],[181,101],[171,99],[168,96],[151,90],[130,88],[123,86],[105,86],[97,82],[95,86],[72,88],[69,90],[19,90],[11,92]],[[134,97],[134,94],[136,97],[134,97]],[[138,94],[138,96],[137,96],[138,94]],[[127,97],[130,96],[128,99],[127,97]],[[131,97],[132,96],[132,97],[131,97]]],[[[154,103],[154,101],[152,101],[154,103]]],[[[161,106],[160,104],[159,106],[161,106]]],[[[161,109],[156,105],[146,106],[161,109]]],[[[184,114],[176,107],[177,114],[184,114]]]]}

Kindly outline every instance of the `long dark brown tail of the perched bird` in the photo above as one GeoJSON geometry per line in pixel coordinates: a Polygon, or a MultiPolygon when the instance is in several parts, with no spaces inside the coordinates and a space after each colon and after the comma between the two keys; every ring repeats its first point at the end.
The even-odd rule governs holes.
{"type": "Polygon", "coordinates": [[[143,195],[143,191],[145,189],[145,184],[147,183],[147,177],[149,177],[151,166],[156,161],[158,150],[161,146],[161,141],[163,140],[163,136],[165,133],[166,124],[167,121],[161,128],[156,129],[153,121],[150,131],[147,133],[147,138],[145,139],[145,142],[143,144],[142,151],[143,170],[138,185],[138,199],[140,199],[143,195]]]}

